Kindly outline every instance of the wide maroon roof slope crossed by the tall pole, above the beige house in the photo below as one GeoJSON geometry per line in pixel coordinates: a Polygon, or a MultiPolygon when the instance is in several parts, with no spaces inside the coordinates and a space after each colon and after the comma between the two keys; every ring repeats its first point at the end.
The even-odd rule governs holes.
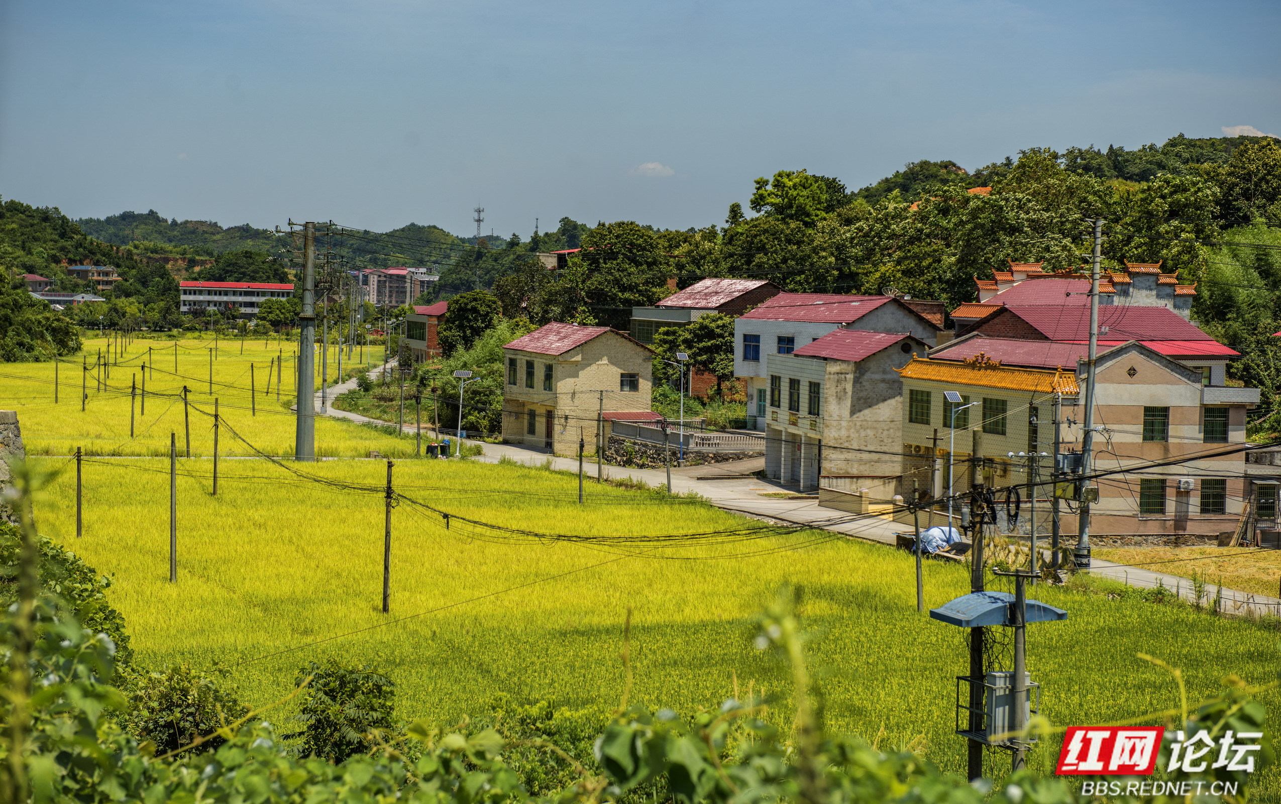
{"type": "MultiPolygon", "coordinates": [[[[1086,305],[1006,305],[1049,341],[1088,341],[1090,314],[1086,305]]],[[[1099,307],[1100,335],[1123,341],[1214,339],[1166,307],[1104,305],[1099,307]],[[1103,328],[1107,326],[1107,332],[1103,328]]]]}

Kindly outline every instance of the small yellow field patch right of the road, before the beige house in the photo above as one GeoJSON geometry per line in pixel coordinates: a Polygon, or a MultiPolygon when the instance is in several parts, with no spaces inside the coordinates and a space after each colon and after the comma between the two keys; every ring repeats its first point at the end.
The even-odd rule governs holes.
{"type": "Polygon", "coordinates": [[[1281,589],[1281,551],[1223,547],[1136,547],[1097,549],[1103,561],[1139,565],[1170,575],[1202,579],[1228,589],[1277,597],[1281,589]],[[1161,562],[1161,563],[1152,563],[1161,562]]]}

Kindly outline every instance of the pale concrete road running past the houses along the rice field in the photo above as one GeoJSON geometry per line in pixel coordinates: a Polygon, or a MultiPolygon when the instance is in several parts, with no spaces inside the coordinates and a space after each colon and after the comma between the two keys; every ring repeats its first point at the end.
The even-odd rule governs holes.
{"type": "MultiPolygon", "coordinates": [[[[393,360],[387,365],[392,366],[395,362],[396,361],[393,360]]],[[[373,369],[369,374],[374,375],[380,370],[382,367],[379,366],[373,369]]],[[[355,387],[355,379],[333,385],[328,390],[328,398],[332,401],[336,396],[351,390],[355,387]]],[[[316,392],[316,411],[319,410],[320,393],[316,392]]],[[[351,421],[387,424],[386,421],[369,419],[368,416],[361,416],[360,414],[339,411],[333,406],[329,406],[327,415],[351,421]]],[[[412,433],[414,426],[405,425],[404,430],[406,433],[412,433]]],[[[429,430],[424,428],[423,433],[425,438],[429,430]]],[[[473,460],[483,461],[485,463],[497,463],[502,458],[509,458],[511,461],[516,461],[518,463],[528,463],[530,466],[543,466],[551,461],[552,469],[570,472],[578,471],[578,458],[551,456],[543,451],[516,444],[482,446],[484,447],[484,454],[473,460]]],[[[725,511],[735,511],[738,513],[775,522],[808,525],[811,527],[830,530],[833,533],[844,534],[847,536],[867,542],[895,544],[894,534],[906,530],[902,524],[893,522],[886,519],[860,517],[856,515],[843,513],[833,508],[822,508],[819,506],[819,501],[816,499],[779,499],[761,497],[761,493],[789,490],[778,483],[762,480],[752,474],[753,471],[758,471],[761,469],[765,469],[765,458],[748,458],[744,461],[731,461],[706,466],[685,466],[680,469],[673,467],[671,486],[676,493],[697,492],[711,501],[714,506],[724,508],[725,511]]],[[[593,461],[585,461],[583,471],[589,479],[597,476],[597,466],[593,461]]],[[[625,469],[621,466],[606,465],[601,471],[603,476],[608,479],[629,478],[633,480],[643,480],[652,486],[666,485],[667,483],[667,474],[661,469],[625,469]]],[[[1177,593],[1185,600],[1196,602],[1190,579],[1168,575],[1155,570],[1148,570],[1145,567],[1126,567],[1123,565],[1103,561],[1100,558],[1093,558],[1090,563],[1091,567],[1089,571],[1093,575],[1117,580],[1123,584],[1129,584],[1130,586],[1141,589],[1154,589],[1158,585],[1163,585],[1171,591],[1177,593]]],[[[1218,586],[1205,584],[1205,593],[1202,599],[1202,604],[1209,604],[1217,591],[1218,586]]],[[[1223,612],[1228,615],[1281,616],[1281,599],[1225,588],[1222,608],[1223,612]]]]}

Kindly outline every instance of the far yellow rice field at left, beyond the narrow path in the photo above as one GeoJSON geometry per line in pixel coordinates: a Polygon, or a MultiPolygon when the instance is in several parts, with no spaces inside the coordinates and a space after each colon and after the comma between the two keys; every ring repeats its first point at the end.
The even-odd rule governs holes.
{"type": "MultiPolygon", "coordinates": [[[[56,370],[58,398],[54,402],[55,369],[53,362],[0,364],[0,408],[18,411],[23,439],[29,454],[73,454],[77,447],[86,454],[108,456],[163,456],[169,452],[169,434],[177,434],[178,449],[186,449],[186,421],[181,399],[183,385],[190,389],[191,452],[208,456],[213,452],[214,399],[219,401],[219,414],[227,422],[219,439],[219,452],[227,456],[252,454],[231,433],[234,430],[270,454],[292,454],[295,416],[292,370],[295,356],[288,342],[272,339],[218,339],[213,361],[213,393],[209,383],[209,353],[214,339],[206,337],[177,342],[135,341],[120,355],[119,365],[104,371],[105,389],[97,389],[95,374],[87,376],[88,399],[81,411],[82,357],[92,366],[97,350],[105,352],[105,339],[90,339],[85,355],[64,358],[56,370]],[[151,347],[149,352],[149,347],[151,347]],[[242,353],[243,352],[243,353],[242,353]],[[283,355],[283,393],[277,399],[275,371],[268,373],[270,361],[283,355]],[[177,369],[174,360],[177,356],[177,369]],[[145,406],[137,401],[135,408],[135,435],[129,437],[129,388],[132,382],[142,384],[142,365],[147,364],[145,406]],[[251,369],[252,366],[252,383],[251,369]],[[251,396],[250,390],[256,392],[251,396]],[[145,412],[143,412],[145,407],[145,412]]],[[[337,350],[334,350],[336,352],[337,350]]],[[[382,358],[382,348],[373,347],[373,355],[382,358]]],[[[319,360],[316,361],[319,373],[319,360]]],[[[337,360],[329,358],[330,378],[337,375],[337,360]]],[[[346,373],[347,361],[343,361],[346,373]]],[[[400,439],[369,428],[318,417],[315,422],[315,448],[320,457],[360,457],[370,451],[391,457],[414,453],[411,440],[400,439]]]]}

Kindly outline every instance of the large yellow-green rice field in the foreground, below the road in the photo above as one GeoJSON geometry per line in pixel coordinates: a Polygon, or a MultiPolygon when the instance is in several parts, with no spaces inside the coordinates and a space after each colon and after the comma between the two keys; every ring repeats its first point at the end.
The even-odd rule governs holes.
{"type": "MultiPolygon", "coordinates": [[[[383,615],[377,488],[355,493],[263,461],[229,461],[214,498],[209,462],[183,461],[179,577],[169,584],[165,469],[141,458],[87,463],[85,536],[74,538],[68,475],[37,501],[41,529],[114,576],[111,599],[142,662],[231,667],[247,703],[279,699],[305,662],[337,657],[386,671],[405,718],[453,725],[500,695],[608,711],[623,694],[629,609],[633,700],[690,712],[749,686],[785,699],[785,671],[751,639],[762,604],[790,581],[804,590],[829,726],[879,735],[883,745],[924,741],[927,755],[963,771],[965,745],[952,727],[965,634],[915,611],[907,553],[813,533],[680,549],[518,539],[459,520],[446,527],[406,503],[393,511],[391,615],[383,615]]],[[[345,484],[386,479],[386,466],[370,461],[306,469],[345,484]]],[[[640,536],[744,524],[698,501],[594,484],[579,506],[574,478],[511,463],[398,461],[393,478],[415,499],[512,527],[640,536]]],[[[926,562],[926,607],[965,591],[965,567],[926,562]]],[[[1193,699],[1213,695],[1228,673],[1276,675],[1277,635],[1266,623],[1088,590],[1040,586],[1031,595],[1071,615],[1029,627],[1029,670],[1045,685],[1043,711],[1057,725],[1177,705],[1170,676],[1138,652],[1184,668],[1193,699]]],[[[999,650],[1008,663],[1008,645],[999,650]]],[[[1262,700],[1276,712],[1275,691],[1262,700]]],[[[785,705],[772,717],[781,721],[785,705]]],[[[1043,743],[1029,764],[1052,772],[1056,753],[1054,740],[1043,743]]],[[[988,762],[993,773],[1008,768],[1000,752],[988,762]]],[[[1271,771],[1259,781],[1276,787],[1271,771]]]]}

